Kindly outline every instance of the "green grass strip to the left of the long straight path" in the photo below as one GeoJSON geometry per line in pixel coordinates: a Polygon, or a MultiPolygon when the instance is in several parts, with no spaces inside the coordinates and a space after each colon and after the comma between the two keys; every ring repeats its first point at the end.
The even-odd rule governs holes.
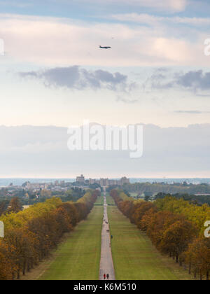
{"type": "Polygon", "coordinates": [[[55,252],[41,280],[98,280],[103,207],[96,206],[55,252]]]}

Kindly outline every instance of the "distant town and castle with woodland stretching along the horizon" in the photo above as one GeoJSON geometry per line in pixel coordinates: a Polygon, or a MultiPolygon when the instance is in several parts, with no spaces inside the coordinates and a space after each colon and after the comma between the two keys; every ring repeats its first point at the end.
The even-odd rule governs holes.
{"type": "Polygon", "coordinates": [[[193,200],[195,202],[210,204],[210,185],[209,183],[193,184],[183,181],[182,183],[165,183],[165,182],[144,182],[132,183],[132,179],[127,179],[123,176],[121,179],[90,179],[85,178],[83,174],[76,176],[76,179],[52,179],[34,183],[33,180],[27,180],[25,183],[14,185],[10,183],[8,186],[0,188],[0,214],[1,206],[3,210],[8,208],[10,200],[18,198],[24,208],[45,200],[51,197],[59,197],[62,202],[77,201],[85,195],[86,191],[106,190],[109,193],[111,190],[120,188],[123,192],[135,199],[144,199],[153,201],[157,197],[165,195],[174,195],[175,197],[183,197],[185,200],[193,200]],[[3,204],[2,204],[3,203],[3,204]]]}

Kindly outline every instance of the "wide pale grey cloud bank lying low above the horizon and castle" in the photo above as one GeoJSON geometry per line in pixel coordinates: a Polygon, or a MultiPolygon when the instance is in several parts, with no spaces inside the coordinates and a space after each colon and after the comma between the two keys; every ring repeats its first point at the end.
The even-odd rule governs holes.
{"type": "Polygon", "coordinates": [[[144,156],[67,149],[64,127],[0,127],[1,176],[210,176],[210,125],[144,125],[144,156]],[[103,167],[103,171],[102,171],[103,167]]]}

